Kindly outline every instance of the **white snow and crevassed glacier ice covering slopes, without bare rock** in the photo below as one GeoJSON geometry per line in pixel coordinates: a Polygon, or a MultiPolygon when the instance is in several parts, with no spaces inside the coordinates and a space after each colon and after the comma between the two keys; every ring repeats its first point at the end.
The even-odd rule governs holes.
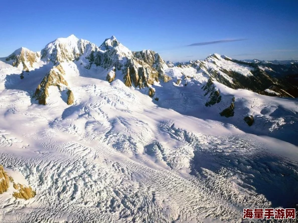
{"type": "MultiPolygon", "coordinates": [[[[78,40],[68,39],[78,50],[78,40]]],[[[216,57],[220,66],[250,75],[216,57]]],[[[166,70],[173,81],[153,86],[156,101],[118,74],[108,83],[108,70],[95,65],[61,65],[73,105],[54,86],[47,105],[32,99],[53,64],[20,79],[22,71],[0,61],[0,164],[37,191],[27,201],[0,194],[0,209],[34,211],[27,219],[41,222],[242,222],[243,208],[296,202],[298,149],[286,142],[297,136],[296,99],[214,81],[222,101],[206,107],[208,76],[173,67],[166,70]],[[182,84],[173,84],[183,74],[182,84]],[[220,117],[232,96],[237,115],[220,117]],[[254,116],[252,127],[247,115],[254,116]]]]}

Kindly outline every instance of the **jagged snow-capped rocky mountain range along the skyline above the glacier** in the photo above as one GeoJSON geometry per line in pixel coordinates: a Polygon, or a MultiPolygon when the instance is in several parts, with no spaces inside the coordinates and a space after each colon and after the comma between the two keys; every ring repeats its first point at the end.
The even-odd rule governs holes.
{"type": "MultiPolygon", "coordinates": [[[[61,89],[69,90],[59,63],[70,61],[79,61],[86,69],[91,66],[102,67],[107,70],[106,79],[109,82],[117,76],[126,86],[148,87],[151,95],[154,95],[155,91],[151,87],[154,81],[167,82],[172,78],[167,75],[166,70],[173,67],[192,67],[203,76],[233,89],[249,89],[269,96],[298,96],[297,61],[239,61],[213,54],[203,61],[166,63],[158,53],[151,50],[131,52],[114,36],[97,47],[71,35],[49,43],[40,52],[32,52],[22,47],[2,60],[27,72],[40,64],[53,64],[53,70],[37,86],[35,98],[42,104],[46,104],[46,86],[56,84],[61,89]]],[[[22,77],[24,73],[21,74],[22,77]]]]}

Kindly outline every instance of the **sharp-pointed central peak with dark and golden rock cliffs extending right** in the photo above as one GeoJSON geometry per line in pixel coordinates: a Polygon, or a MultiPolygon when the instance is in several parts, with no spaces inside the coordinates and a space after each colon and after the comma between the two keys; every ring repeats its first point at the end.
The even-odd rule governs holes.
{"type": "MultiPolygon", "coordinates": [[[[166,62],[151,50],[131,52],[114,36],[106,39],[99,47],[98,52],[92,53],[90,62],[105,69],[120,70],[126,86],[147,87],[160,79],[168,81],[164,70],[168,68],[166,62]]],[[[110,71],[106,77],[107,81],[113,80],[110,71]]]]}

